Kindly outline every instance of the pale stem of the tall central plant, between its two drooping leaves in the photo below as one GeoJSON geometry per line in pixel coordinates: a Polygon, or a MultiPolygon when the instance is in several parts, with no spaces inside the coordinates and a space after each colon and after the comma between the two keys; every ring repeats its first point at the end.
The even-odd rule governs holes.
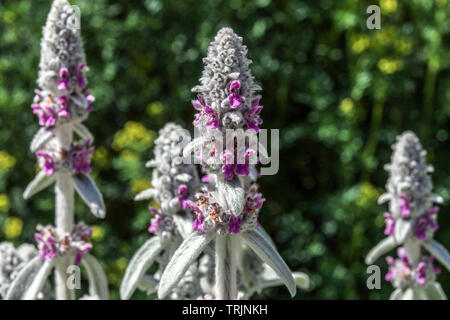
{"type": "Polygon", "coordinates": [[[216,299],[235,300],[237,298],[236,250],[237,239],[233,235],[216,237],[216,299]]]}

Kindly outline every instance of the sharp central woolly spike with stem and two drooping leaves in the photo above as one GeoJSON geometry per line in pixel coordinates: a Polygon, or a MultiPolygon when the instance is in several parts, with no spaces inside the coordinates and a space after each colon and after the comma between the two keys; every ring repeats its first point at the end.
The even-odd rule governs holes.
{"type": "Polygon", "coordinates": [[[196,215],[194,231],[184,239],[165,268],[158,289],[160,299],[171,292],[212,241],[215,242],[214,295],[217,299],[237,298],[237,260],[242,243],[267,263],[291,295],[295,295],[295,281],[288,266],[271,241],[257,231],[258,212],[264,199],[257,185],[247,178],[251,171],[248,160],[256,150],[250,147],[238,150],[245,154],[246,161],[235,164],[227,161],[234,150],[222,150],[216,144],[217,137],[225,137],[226,129],[257,132],[262,123],[261,97],[255,94],[260,88],[253,84],[246,54],[242,38],[230,28],[221,29],[204,59],[201,85],[192,90],[199,93],[193,106],[198,111],[194,125],[200,129],[201,136],[186,146],[184,155],[200,148],[202,169],[213,177],[213,183],[198,192],[197,201],[187,201],[196,215]]]}

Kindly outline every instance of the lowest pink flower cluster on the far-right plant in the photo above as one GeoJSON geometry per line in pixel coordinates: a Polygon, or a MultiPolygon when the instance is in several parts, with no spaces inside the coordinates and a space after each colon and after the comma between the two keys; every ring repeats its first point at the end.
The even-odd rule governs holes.
{"type": "Polygon", "coordinates": [[[408,288],[416,285],[424,286],[434,281],[436,275],[440,273],[439,267],[433,264],[434,257],[422,256],[421,260],[412,263],[403,247],[397,250],[398,259],[386,257],[389,265],[389,272],[385,279],[392,282],[395,288],[408,288]]]}

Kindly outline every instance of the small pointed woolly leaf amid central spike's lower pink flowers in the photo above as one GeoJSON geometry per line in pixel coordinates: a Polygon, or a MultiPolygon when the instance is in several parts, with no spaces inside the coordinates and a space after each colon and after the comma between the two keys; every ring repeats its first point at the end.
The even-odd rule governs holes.
{"type": "Polygon", "coordinates": [[[239,216],[244,209],[245,192],[238,177],[233,180],[217,179],[216,199],[225,210],[230,210],[234,216],[239,216]]]}

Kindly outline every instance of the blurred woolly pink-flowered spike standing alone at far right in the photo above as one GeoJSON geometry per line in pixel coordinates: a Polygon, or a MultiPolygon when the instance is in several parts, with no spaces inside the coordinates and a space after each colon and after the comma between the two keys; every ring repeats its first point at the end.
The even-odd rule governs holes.
{"type": "Polygon", "coordinates": [[[372,264],[400,246],[397,259],[386,259],[386,280],[395,288],[391,299],[446,299],[435,281],[440,269],[434,260],[450,270],[450,255],[433,240],[439,211],[434,204],[442,203],[442,198],[432,193],[433,168],[426,163],[426,151],[413,132],[398,136],[393,150],[386,166],[387,192],[379,198],[379,203],[389,201],[389,212],[384,214],[387,237],[369,252],[366,263],[372,264]]]}

